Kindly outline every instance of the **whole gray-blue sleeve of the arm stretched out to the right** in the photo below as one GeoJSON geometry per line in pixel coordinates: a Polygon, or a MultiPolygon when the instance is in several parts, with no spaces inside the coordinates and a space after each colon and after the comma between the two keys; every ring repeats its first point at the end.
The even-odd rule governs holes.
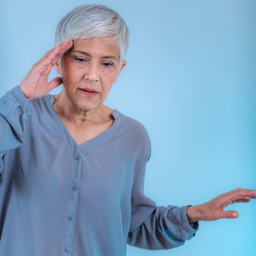
{"type": "Polygon", "coordinates": [[[186,208],[156,207],[143,194],[146,164],[133,184],[132,216],[127,243],[145,249],[169,249],[183,245],[198,230],[198,223],[190,225],[186,208]]]}

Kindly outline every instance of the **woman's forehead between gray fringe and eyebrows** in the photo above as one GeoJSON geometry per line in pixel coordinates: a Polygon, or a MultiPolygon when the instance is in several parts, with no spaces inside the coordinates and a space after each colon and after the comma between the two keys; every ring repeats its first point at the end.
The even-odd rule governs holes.
{"type": "Polygon", "coordinates": [[[117,46],[107,37],[73,40],[72,52],[86,53],[90,56],[114,56],[119,58],[117,46]]]}

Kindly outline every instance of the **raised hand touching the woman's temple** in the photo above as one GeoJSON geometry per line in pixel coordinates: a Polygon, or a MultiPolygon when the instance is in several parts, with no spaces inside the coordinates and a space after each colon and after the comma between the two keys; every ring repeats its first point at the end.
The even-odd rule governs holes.
{"type": "Polygon", "coordinates": [[[28,101],[39,99],[53,88],[61,85],[61,77],[55,77],[48,83],[49,74],[58,59],[65,54],[73,45],[73,42],[64,41],[49,50],[36,64],[20,83],[19,87],[28,101]]]}

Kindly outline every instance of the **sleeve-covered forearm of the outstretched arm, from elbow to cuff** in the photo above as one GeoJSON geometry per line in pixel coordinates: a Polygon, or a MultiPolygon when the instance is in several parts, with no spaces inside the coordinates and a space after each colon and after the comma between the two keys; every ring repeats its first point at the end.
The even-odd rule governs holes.
{"type": "Polygon", "coordinates": [[[127,243],[145,249],[170,249],[183,245],[195,236],[198,225],[189,225],[186,206],[156,207],[136,229],[130,231],[127,243]]]}

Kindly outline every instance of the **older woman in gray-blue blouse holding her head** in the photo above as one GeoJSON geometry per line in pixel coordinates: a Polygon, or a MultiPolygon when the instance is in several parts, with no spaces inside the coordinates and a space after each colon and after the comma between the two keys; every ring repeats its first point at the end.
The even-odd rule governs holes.
{"type": "Polygon", "coordinates": [[[150,140],[137,121],[103,105],[126,65],[128,29],[102,5],[79,6],[56,47],[0,100],[0,255],[124,256],[183,245],[199,220],[256,198],[237,189],[197,206],[156,207],[143,194],[150,140]],[[61,77],[48,83],[56,69],[61,77]],[[63,83],[58,95],[47,94],[63,83]]]}

